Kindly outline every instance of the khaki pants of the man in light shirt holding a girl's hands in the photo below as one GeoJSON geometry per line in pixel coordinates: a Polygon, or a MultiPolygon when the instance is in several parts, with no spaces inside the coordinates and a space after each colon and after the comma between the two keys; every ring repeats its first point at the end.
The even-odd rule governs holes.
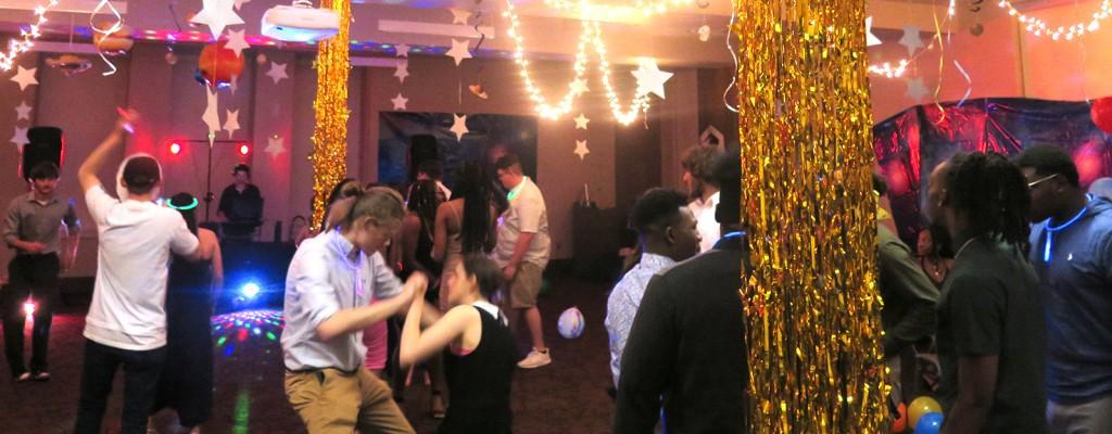
{"type": "Polygon", "coordinates": [[[309,434],[405,433],[413,426],[394,403],[390,387],[365,367],[286,372],[286,398],[309,434]]]}

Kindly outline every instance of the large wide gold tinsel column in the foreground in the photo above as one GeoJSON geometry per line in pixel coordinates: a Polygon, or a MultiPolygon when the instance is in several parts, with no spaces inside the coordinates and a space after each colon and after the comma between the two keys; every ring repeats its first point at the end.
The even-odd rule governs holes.
{"type": "Polygon", "coordinates": [[[755,433],[882,433],[863,0],[734,0],[755,433]]]}

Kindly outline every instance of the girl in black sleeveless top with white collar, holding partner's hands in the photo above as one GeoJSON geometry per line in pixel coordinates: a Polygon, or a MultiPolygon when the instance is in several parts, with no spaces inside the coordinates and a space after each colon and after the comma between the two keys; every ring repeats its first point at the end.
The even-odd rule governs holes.
{"type": "Polygon", "coordinates": [[[439,433],[510,433],[510,380],[519,357],[505,315],[489,302],[502,270],[470,254],[441,284],[453,307],[421,331],[425,299],[414,297],[401,331],[400,364],[445,351],[451,403],[439,433]]]}

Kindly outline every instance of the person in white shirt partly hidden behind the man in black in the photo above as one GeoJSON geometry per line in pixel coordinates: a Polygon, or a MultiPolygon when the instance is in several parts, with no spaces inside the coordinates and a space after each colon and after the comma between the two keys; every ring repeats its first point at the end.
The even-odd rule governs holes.
{"type": "Polygon", "coordinates": [[[697,145],[688,149],[679,162],[684,168],[684,185],[693,199],[687,208],[695,213],[698,233],[703,236],[699,252],[714,249],[722,238],[722,229],[714,220],[714,210],[718,208],[718,185],[713,176],[714,162],[721,155],[716,148],[697,145]]]}

